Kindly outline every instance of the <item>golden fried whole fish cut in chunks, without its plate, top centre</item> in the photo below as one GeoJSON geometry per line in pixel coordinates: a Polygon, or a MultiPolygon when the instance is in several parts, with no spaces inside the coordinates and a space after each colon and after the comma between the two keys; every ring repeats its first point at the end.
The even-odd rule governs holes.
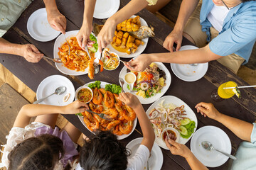
{"type": "MultiPolygon", "coordinates": [[[[94,33],[100,32],[102,26],[94,25],[94,33]]],[[[140,17],[129,18],[117,24],[112,47],[119,52],[126,52],[128,55],[137,51],[140,45],[144,45],[144,38],[154,37],[154,28],[141,26],[140,17]]]]}

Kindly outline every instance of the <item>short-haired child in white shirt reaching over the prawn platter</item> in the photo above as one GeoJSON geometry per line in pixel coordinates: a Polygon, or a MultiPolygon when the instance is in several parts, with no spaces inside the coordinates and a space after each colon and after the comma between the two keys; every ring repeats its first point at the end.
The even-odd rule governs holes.
{"type": "Polygon", "coordinates": [[[109,131],[99,131],[95,136],[85,140],[80,152],[80,165],[78,164],[76,170],[140,170],[146,166],[154,145],[154,130],[136,96],[122,93],[119,94],[119,99],[133,108],[142,128],[143,140],[136,154],[131,159],[127,159],[129,152],[117,140],[117,136],[109,131]]]}

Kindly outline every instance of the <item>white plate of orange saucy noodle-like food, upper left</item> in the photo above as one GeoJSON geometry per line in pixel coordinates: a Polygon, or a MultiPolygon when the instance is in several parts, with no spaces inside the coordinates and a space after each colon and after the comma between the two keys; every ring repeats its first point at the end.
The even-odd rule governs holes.
{"type": "MultiPolygon", "coordinates": [[[[58,36],[55,40],[53,47],[53,57],[60,58],[63,63],[55,63],[57,69],[63,74],[80,76],[88,73],[88,61],[90,57],[87,55],[87,52],[82,50],[82,48],[78,45],[78,41],[75,36],[78,34],[79,30],[72,30],[65,33],[65,37],[67,38],[68,45],[70,45],[70,55],[68,55],[68,45],[65,41],[65,37],[63,34],[58,36]]],[[[91,34],[90,39],[92,42],[97,44],[97,38],[93,34],[91,34]]],[[[93,46],[94,47],[94,46],[93,46]]],[[[100,59],[100,52],[98,50],[94,50],[96,52],[90,52],[91,57],[95,57],[95,59],[100,59]]],[[[95,61],[96,62],[96,61],[95,61]]]]}

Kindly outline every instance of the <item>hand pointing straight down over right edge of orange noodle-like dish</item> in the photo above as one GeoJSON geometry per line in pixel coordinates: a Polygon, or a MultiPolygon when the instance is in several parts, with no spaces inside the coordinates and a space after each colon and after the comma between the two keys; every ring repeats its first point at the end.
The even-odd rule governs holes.
{"type": "Polygon", "coordinates": [[[92,24],[82,23],[82,27],[80,28],[76,38],[78,40],[79,46],[85,50],[85,46],[87,42],[90,42],[90,34],[92,33],[92,24]]]}

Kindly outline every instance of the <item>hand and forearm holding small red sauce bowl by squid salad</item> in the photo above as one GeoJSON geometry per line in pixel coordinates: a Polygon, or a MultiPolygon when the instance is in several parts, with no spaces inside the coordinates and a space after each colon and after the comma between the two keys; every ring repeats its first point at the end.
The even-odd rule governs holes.
{"type": "Polygon", "coordinates": [[[165,142],[166,142],[166,146],[170,149],[171,154],[176,154],[176,155],[180,155],[181,157],[184,157],[192,170],[207,169],[206,166],[204,166],[195,157],[195,155],[191,152],[191,150],[188,149],[188,147],[186,147],[186,145],[179,144],[174,140],[167,140],[167,137],[165,139],[165,142]]]}

